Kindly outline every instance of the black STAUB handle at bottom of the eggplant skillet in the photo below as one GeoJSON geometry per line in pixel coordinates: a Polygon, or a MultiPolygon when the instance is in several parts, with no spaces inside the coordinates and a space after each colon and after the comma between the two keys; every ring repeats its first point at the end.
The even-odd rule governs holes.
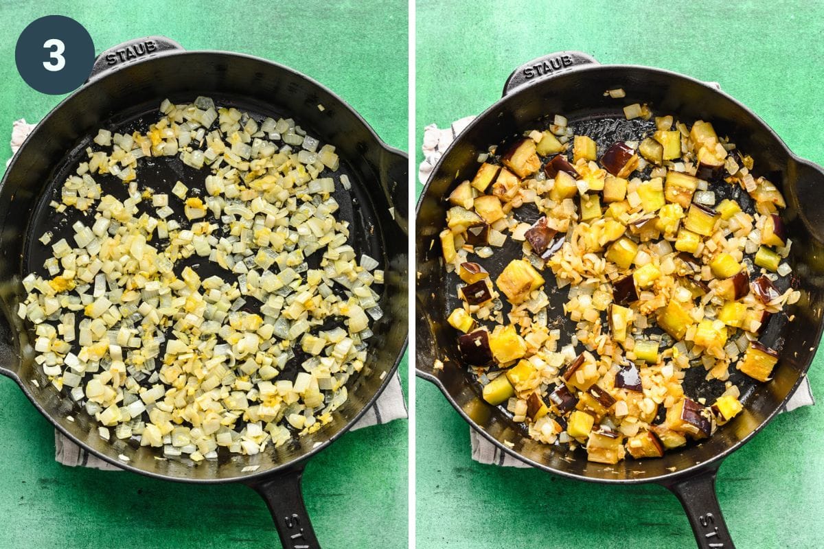
{"type": "Polygon", "coordinates": [[[714,463],[691,477],[663,483],[681,501],[699,549],[735,548],[721,514],[718,496],[715,495],[719,465],[714,463]]]}

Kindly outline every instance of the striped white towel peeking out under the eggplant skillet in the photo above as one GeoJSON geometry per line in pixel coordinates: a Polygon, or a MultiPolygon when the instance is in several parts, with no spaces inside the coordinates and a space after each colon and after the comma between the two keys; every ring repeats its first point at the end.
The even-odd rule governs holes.
{"type": "MultiPolygon", "coordinates": [[[[718,87],[718,84],[709,82],[718,87]]],[[[438,164],[443,152],[447,150],[449,144],[455,140],[455,137],[461,133],[466,126],[468,126],[474,116],[466,116],[460,120],[453,122],[449,128],[441,129],[435,124],[430,124],[424,128],[424,142],[421,146],[424,151],[424,161],[420,163],[418,170],[418,179],[421,184],[426,184],[429,175],[435,165],[438,164]]],[[[810,388],[809,379],[805,376],[798,390],[794,393],[792,398],[787,402],[782,412],[791,412],[794,409],[802,406],[812,406],[815,404],[815,398],[812,397],[812,389],[810,388]]],[[[495,446],[489,440],[486,440],[477,431],[470,427],[470,442],[472,445],[472,459],[479,463],[488,463],[493,465],[501,465],[503,467],[531,467],[529,464],[522,462],[511,454],[507,454],[498,446],[495,446]]]]}

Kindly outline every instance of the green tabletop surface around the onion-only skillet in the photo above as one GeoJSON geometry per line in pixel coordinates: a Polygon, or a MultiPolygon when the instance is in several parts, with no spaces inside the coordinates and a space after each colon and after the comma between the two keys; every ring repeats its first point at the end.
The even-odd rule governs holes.
{"type": "MultiPolygon", "coordinates": [[[[0,171],[11,154],[12,121],[36,122],[61,99],[32,91],[14,62],[17,36],[50,14],[86,26],[98,53],[166,35],[186,49],[286,64],[329,86],[386,142],[405,149],[407,5],[369,3],[2,0],[0,171]]],[[[263,500],[246,487],[66,468],[54,462],[52,432],[16,385],[0,379],[0,548],[280,547],[263,500]]],[[[406,446],[406,421],[393,421],[349,433],[311,460],[303,489],[324,547],[406,547],[406,446]]]]}

